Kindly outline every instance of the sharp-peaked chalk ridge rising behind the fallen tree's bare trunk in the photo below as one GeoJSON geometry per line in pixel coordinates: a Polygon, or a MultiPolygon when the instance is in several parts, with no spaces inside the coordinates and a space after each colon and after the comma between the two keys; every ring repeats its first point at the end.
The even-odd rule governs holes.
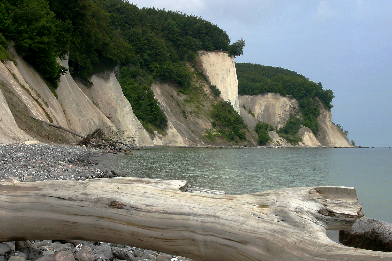
{"type": "MultiPolygon", "coordinates": [[[[68,68],[68,59],[61,62],[68,68]]],[[[111,121],[89,100],[74,82],[71,75],[62,75],[56,89],[58,101],[69,119],[70,126],[74,131],[87,135],[101,128],[112,128],[111,121]]]]}

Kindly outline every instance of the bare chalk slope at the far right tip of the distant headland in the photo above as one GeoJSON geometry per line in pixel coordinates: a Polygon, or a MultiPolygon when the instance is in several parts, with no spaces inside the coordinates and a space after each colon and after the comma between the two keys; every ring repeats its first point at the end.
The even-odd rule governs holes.
{"type": "Polygon", "coordinates": [[[345,133],[332,123],[332,114],[330,110],[321,108],[318,122],[319,132],[317,140],[321,145],[331,147],[352,147],[345,133]]]}

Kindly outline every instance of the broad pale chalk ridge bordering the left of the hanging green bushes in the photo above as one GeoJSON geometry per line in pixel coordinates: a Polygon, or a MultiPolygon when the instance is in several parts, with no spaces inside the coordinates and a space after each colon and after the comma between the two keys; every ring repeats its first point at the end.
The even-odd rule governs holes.
{"type": "Polygon", "coordinates": [[[120,137],[136,137],[136,143],[152,146],[150,135],[133,113],[132,106],[125,98],[114,72],[93,75],[93,86],[87,87],[77,82],[79,88],[90,101],[117,128],[120,137]]]}

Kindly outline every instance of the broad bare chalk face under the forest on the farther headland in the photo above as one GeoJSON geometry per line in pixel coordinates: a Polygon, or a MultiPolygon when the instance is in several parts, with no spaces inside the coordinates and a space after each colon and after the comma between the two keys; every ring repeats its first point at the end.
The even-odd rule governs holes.
{"type": "Polygon", "coordinates": [[[238,99],[240,105],[244,104],[248,110],[250,109],[256,119],[272,124],[277,129],[285,126],[291,115],[299,108],[296,99],[272,92],[259,95],[240,95],[238,99]]]}

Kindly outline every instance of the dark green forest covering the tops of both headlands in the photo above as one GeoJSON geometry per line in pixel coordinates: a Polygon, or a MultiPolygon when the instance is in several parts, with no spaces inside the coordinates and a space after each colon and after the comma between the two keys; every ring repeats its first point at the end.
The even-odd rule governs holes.
{"type": "MultiPolygon", "coordinates": [[[[245,44],[241,39],[230,45],[225,31],[201,17],[140,9],[127,0],[0,0],[0,59],[9,57],[5,48],[11,41],[52,89],[67,71],[58,57],[69,54],[69,72],[86,85],[93,74],[120,65],[118,80],[134,113],[143,126],[160,129],[167,120],[151,83],[172,82],[189,90],[188,66],[196,62],[196,50],[225,50],[238,56],[245,44]]],[[[317,135],[316,97],[332,108],[331,90],[279,67],[237,63],[236,68],[240,94],[292,95],[299,101],[301,124],[317,135]]]]}

